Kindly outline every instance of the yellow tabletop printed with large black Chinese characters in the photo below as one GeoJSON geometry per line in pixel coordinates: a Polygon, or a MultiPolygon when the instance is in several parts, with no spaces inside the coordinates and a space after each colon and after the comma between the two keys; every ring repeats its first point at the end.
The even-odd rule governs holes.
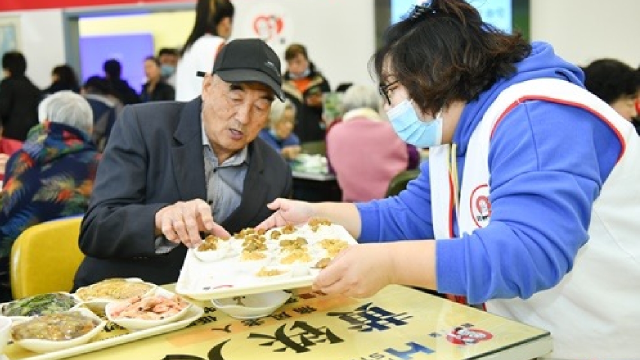
{"type": "MultiPolygon", "coordinates": [[[[547,331],[403,286],[364,300],[298,290],[253,320],[200,305],[204,316],[185,329],[74,359],[528,360],[551,350],[547,331]]],[[[33,356],[15,347],[11,360],[33,356]]]]}

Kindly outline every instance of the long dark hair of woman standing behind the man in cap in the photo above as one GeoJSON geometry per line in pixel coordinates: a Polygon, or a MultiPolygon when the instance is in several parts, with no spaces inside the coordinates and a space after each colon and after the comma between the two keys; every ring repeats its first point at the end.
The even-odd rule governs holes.
{"type": "Polygon", "coordinates": [[[236,12],[234,4],[229,0],[198,0],[196,4],[196,20],[191,29],[191,34],[184,43],[180,55],[184,55],[186,51],[193,45],[198,38],[209,33],[218,35],[216,27],[226,17],[233,19],[236,12]]]}

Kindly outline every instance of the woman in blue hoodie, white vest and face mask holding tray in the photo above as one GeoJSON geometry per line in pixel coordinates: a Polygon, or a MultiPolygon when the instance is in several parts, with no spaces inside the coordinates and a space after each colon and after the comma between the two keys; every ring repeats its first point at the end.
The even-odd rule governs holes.
{"type": "Polygon", "coordinates": [[[420,286],[547,329],[545,359],[636,359],[630,122],[550,45],[502,33],[463,0],[413,7],[373,64],[396,133],[430,148],[420,176],[372,202],[278,199],[258,229],[318,216],[346,227],[360,244],[317,276],[324,293],[420,286]]]}

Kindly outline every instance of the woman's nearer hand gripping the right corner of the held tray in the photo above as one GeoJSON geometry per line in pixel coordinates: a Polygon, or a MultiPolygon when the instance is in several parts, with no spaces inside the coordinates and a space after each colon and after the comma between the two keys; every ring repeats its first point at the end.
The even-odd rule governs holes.
{"type": "Polygon", "coordinates": [[[342,250],[313,284],[314,290],[349,297],[371,297],[396,283],[392,243],[351,245],[342,250]]]}

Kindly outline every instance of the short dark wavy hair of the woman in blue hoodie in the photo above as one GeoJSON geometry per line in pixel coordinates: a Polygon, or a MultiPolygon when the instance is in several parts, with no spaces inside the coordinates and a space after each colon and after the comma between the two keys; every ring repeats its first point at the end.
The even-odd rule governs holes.
{"type": "Polygon", "coordinates": [[[511,76],[515,63],[530,53],[531,44],[522,34],[509,35],[486,24],[466,1],[433,0],[390,26],[369,64],[383,83],[388,61],[420,110],[435,114],[452,101],[471,101],[511,76]]]}

